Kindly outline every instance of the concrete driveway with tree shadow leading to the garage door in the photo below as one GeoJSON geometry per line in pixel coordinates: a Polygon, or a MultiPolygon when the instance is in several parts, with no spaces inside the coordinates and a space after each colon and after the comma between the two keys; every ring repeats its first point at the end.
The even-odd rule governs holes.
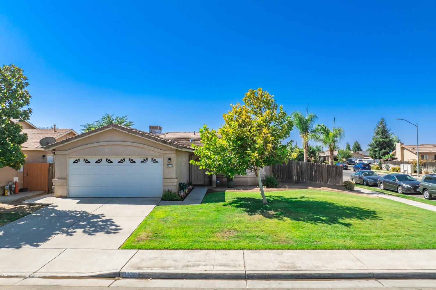
{"type": "Polygon", "coordinates": [[[118,249],[160,198],[54,198],[0,227],[0,248],[118,249]]]}

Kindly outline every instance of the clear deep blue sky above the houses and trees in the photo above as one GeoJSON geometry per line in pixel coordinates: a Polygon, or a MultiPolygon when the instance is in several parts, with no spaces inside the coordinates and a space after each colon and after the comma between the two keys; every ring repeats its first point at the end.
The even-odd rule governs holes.
{"type": "MultiPolygon", "coordinates": [[[[217,128],[250,88],[366,149],[375,124],[436,143],[436,1],[6,1],[0,64],[24,69],[31,122],[217,128]],[[356,118],[353,120],[352,118],[356,118]],[[358,120],[357,120],[358,119],[358,120]]],[[[294,130],[292,139],[301,144],[294,130]]]]}

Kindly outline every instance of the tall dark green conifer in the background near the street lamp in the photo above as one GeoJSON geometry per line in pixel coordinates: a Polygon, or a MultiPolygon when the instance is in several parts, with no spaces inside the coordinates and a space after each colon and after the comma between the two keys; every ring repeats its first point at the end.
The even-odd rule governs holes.
{"type": "Polygon", "coordinates": [[[378,121],[371,143],[368,146],[369,156],[373,159],[380,159],[395,149],[395,143],[385,118],[378,121]]]}

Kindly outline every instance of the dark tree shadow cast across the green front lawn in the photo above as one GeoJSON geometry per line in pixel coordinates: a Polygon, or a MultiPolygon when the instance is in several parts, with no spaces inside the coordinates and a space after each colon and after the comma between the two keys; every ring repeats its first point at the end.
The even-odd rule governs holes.
{"type": "MultiPolygon", "coordinates": [[[[375,210],[344,206],[323,200],[310,200],[306,197],[283,197],[270,195],[269,204],[253,197],[236,197],[224,206],[236,207],[249,215],[262,215],[276,220],[295,220],[315,224],[341,224],[351,227],[352,223],[343,220],[382,220],[375,210]]],[[[214,201],[216,202],[216,201],[214,201]]]]}

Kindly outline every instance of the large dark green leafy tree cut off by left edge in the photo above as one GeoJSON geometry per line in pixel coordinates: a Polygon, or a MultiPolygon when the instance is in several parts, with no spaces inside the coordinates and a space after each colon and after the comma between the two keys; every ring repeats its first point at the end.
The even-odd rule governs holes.
{"type": "Polygon", "coordinates": [[[21,125],[11,119],[29,120],[32,110],[24,109],[30,104],[29,85],[23,70],[14,64],[0,68],[0,168],[19,170],[25,162],[21,144],[27,134],[21,134],[21,125]]]}

